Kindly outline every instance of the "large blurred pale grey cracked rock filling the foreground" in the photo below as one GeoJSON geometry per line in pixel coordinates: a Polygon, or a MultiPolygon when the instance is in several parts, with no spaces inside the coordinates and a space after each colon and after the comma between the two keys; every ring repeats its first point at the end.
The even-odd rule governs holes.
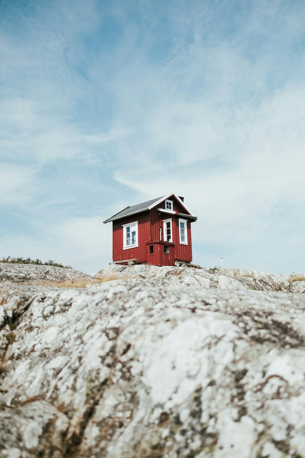
{"type": "Polygon", "coordinates": [[[0,456],[305,456],[305,297],[0,285],[0,456]]]}

